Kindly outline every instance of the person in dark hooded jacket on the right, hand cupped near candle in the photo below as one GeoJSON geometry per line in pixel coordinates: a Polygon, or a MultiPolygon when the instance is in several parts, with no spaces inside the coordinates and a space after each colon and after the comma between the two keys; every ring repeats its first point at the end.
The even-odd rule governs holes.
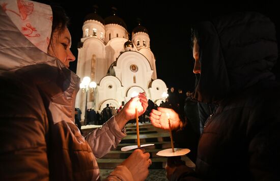
{"type": "MultiPolygon", "coordinates": [[[[257,12],[238,12],[192,29],[193,99],[217,105],[198,146],[195,171],[168,159],[170,180],[280,180],[280,86],[271,69],[278,48],[274,23],[257,12]]],[[[182,127],[172,109],[158,108],[151,123],[182,127]]],[[[178,161],[177,161],[178,163],[178,161]]],[[[181,162],[183,163],[183,162],[181,162]]]]}

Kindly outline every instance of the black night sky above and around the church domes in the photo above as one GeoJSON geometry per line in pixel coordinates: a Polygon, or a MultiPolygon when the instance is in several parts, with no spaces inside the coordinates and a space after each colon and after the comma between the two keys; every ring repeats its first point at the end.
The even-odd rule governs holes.
{"type": "MultiPolygon", "coordinates": [[[[128,33],[137,26],[137,18],[147,28],[150,36],[150,48],[155,55],[157,78],[162,79],[167,87],[175,89],[194,89],[195,76],[192,73],[193,58],[190,48],[191,24],[206,20],[210,17],[235,11],[258,11],[270,17],[280,37],[280,21],[278,7],[271,1],[226,1],[225,3],[205,3],[209,1],[106,1],[106,0],[79,0],[55,1],[66,10],[71,24],[69,31],[72,36],[72,52],[77,58],[77,43],[82,37],[83,19],[93,12],[93,6],[99,8],[97,13],[105,19],[113,15],[111,7],[117,8],[116,15],[122,18],[128,33]]],[[[131,40],[131,35],[130,35],[131,40]]],[[[278,41],[279,42],[279,41],[278,41]]],[[[279,74],[280,63],[274,72],[279,74]]],[[[76,72],[76,61],[70,63],[70,69],[76,72]]],[[[176,91],[177,91],[176,90],[176,91]]]]}

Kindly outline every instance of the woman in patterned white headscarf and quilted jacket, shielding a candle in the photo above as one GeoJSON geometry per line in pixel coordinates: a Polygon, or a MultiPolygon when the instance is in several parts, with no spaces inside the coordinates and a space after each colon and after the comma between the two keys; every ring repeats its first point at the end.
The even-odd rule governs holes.
{"type": "MultiPolygon", "coordinates": [[[[63,9],[23,0],[0,5],[0,180],[100,180],[96,158],[125,136],[132,103],[145,112],[146,96],[84,138],[74,124],[80,79],[68,69],[75,57],[63,9]]],[[[107,179],[144,180],[149,157],[136,149],[107,179]]]]}

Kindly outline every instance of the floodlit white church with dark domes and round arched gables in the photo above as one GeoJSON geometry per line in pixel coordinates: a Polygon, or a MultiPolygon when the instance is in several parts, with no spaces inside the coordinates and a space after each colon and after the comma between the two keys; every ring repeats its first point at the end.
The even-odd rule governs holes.
{"type": "Polygon", "coordinates": [[[95,111],[102,111],[106,104],[119,108],[135,92],[145,92],[158,105],[165,100],[167,87],[157,78],[156,60],[145,27],[135,27],[129,41],[126,24],[120,17],[102,19],[97,13],[91,13],[83,22],[82,32],[76,74],[81,79],[88,76],[97,83],[93,92],[83,93],[80,89],[77,94],[75,107],[82,114],[86,97],[87,108],[95,111]]]}

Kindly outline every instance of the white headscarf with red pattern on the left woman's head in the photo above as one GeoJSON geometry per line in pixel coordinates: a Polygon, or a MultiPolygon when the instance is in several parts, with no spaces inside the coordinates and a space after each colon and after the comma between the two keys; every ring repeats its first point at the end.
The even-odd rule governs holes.
{"type": "Polygon", "coordinates": [[[0,0],[0,5],[19,31],[47,53],[52,25],[51,7],[27,0],[0,0]]]}

